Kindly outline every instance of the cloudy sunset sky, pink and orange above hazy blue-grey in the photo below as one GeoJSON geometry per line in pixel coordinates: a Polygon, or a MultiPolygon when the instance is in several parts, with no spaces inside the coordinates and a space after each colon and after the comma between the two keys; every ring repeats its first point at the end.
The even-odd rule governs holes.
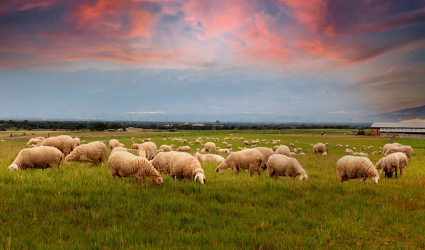
{"type": "Polygon", "coordinates": [[[0,118],[363,120],[425,105],[425,0],[2,0],[0,34],[0,118]]]}

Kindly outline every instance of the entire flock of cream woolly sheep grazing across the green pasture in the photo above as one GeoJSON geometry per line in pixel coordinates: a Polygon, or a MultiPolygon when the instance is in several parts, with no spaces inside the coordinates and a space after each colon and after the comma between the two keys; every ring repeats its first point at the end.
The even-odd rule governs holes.
{"type": "MultiPolygon", "coordinates": [[[[166,138],[162,139],[166,140],[166,138]]],[[[27,145],[30,148],[22,149],[16,159],[8,167],[9,171],[18,169],[45,169],[57,168],[62,159],[65,164],[70,161],[92,162],[94,164],[102,164],[108,158],[108,169],[111,176],[115,177],[134,177],[135,181],[143,180],[147,177],[157,184],[163,183],[162,173],[171,175],[174,179],[191,178],[201,184],[205,184],[205,174],[200,165],[200,161],[210,161],[218,164],[215,171],[222,174],[226,169],[231,169],[234,174],[239,174],[240,169],[249,171],[253,176],[255,172],[261,174],[261,169],[266,170],[268,176],[277,178],[278,176],[297,177],[300,176],[300,181],[307,181],[307,173],[302,166],[293,158],[294,155],[305,155],[302,148],[295,147],[295,144],[277,145],[280,140],[271,140],[268,142],[263,140],[264,144],[276,144],[273,148],[257,147],[261,144],[260,140],[246,141],[243,137],[226,137],[225,140],[241,140],[246,145],[251,145],[252,148],[239,148],[240,151],[233,152],[232,144],[222,142],[226,146],[225,149],[216,147],[215,142],[219,142],[218,138],[205,137],[205,140],[213,142],[203,143],[204,138],[198,137],[195,142],[188,142],[181,138],[171,138],[184,146],[179,147],[176,151],[173,150],[174,145],[163,144],[157,148],[157,144],[150,142],[150,138],[139,140],[140,143],[135,143],[135,138],[132,138],[131,149],[125,148],[125,145],[118,140],[112,139],[108,142],[111,154],[108,158],[108,147],[105,142],[90,142],[83,144],[78,137],[72,138],[69,135],[60,135],[57,137],[37,137],[31,138],[27,145]],[[191,147],[197,144],[203,146],[202,149],[197,149],[194,155],[191,155],[191,147]],[[292,149],[290,149],[292,148],[292,149]],[[227,157],[222,157],[217,153],[226,154],[227,157]],[[135,155],[137,154],[137,155],[135,155]]],[[[328,143],[310,144],[313,154],[327,155],[328,143]]],[[[336,147],[342,147],[341,144],[336,147]]],[[[348,147],[348,145],[346,145],[348,147]]],[[[353,148],[355,149],[355,148],[353,148]]],[[[365,151],[372,151],[373,147],[366,148],[365,151]]],[[[385,171],[385,178],[392,178],[397,171],[400,175],[404,175],[404,168],[407,166],[407,159],[412,158],[413,149],[410,146],[393,143],[385,144],[378,154],[384,152],[385,157],[382,157],[377,164],[373,164],[368,159],[366,153],[354,153],[351,149],[346,149],[346,156],[341,157],[336,162],[336,173],[341,182],[348,179],[359,178],[360,181],[366,181],[371,178],[373,183],[378,183],[380,174],[385,171]],[[378,174],[378,170],[380,173],[378,174]]],[[[373,152],[374,154],[375,152],[373,152]]]]}

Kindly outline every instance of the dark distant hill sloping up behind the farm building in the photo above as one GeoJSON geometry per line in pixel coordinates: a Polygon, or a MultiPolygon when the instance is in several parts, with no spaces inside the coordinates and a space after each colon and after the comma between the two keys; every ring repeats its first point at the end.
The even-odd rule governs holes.
{"type": "Polygon", "coordinates": [[[389,123],[395,123],[401,120],[419,120],[419,118],[425,118],[425,105],[416,108],[405,108],[394,112],[369,115],[369,118],[373,122],[389,123]]]}

